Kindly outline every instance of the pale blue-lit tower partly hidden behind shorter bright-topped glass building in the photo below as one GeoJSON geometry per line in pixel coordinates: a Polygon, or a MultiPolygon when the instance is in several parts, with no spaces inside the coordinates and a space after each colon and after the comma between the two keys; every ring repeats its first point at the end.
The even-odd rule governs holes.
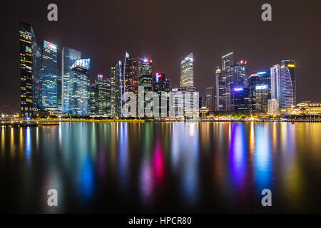
{"type": "Polygon", "coordinates": [[[68,113],[69,108],[69,91],[68,91],[68,83],[71,73],[71,66],[76,60],[81,59],[81,52],[76,51],[72,48],[63,47],[61,51],[61,96],[62,96],[62,104],[61,109],[62,113],[68,113]]]}

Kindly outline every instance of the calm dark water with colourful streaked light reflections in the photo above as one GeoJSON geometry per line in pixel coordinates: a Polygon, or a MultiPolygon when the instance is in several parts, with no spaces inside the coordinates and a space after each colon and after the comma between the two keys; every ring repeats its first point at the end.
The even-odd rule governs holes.
{"type": "Polygon", "coordinates": [[[321,212],[320,123],[61,123],[0,138],[1,212],[321,212]]]}

